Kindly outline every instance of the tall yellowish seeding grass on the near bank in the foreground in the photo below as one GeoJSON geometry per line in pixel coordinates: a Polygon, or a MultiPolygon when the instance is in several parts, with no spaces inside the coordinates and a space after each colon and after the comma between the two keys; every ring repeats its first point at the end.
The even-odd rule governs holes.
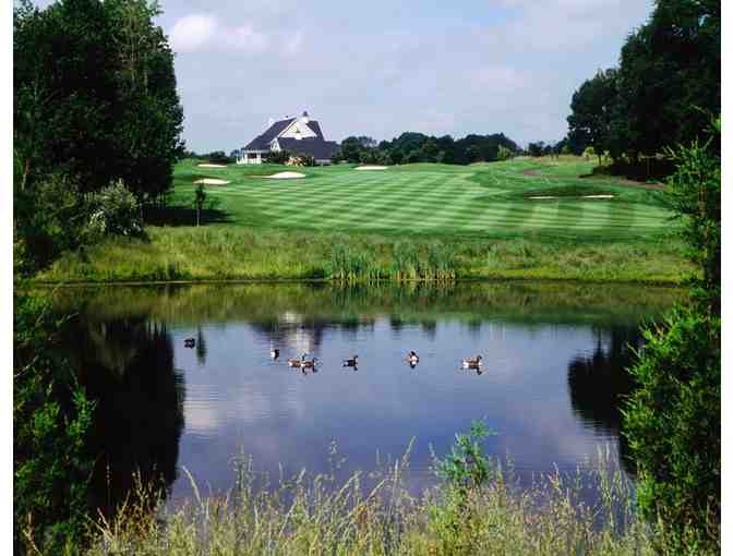
{"type": "Polygon", "coordinates": [[[659,548],[657,527],[640,521],[633,485],[608,448],[582,473],[556,471],[529,487],[498,462],[485,484],[460,496],[449,483],[414,496],[408,475],[409,448],[369,475],[339,481],[333,470],[314,476],[303,471],[280,476],[276,485],[263,483],[243,458],[225,495],[202,496],[189,474],[194,494],[187,503],[157,513],[125,507],[94,525],[86,554],[540,556],[659,548]],[[598,501],[582,501],[588,488],[598,501]]]}

